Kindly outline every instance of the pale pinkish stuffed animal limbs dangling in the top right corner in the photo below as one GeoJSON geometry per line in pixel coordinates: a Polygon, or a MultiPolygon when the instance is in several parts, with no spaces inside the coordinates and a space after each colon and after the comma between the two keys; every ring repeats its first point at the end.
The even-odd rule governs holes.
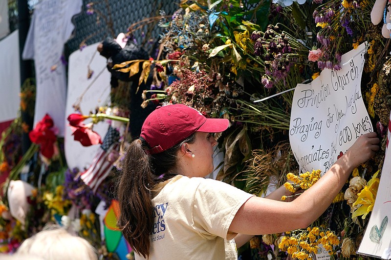
{"type": "Polygon", "coordinates": [[[391,35],[391,6],[387,7],[387,0],[376,0],[370,12],[370,20],[374,25],[384,22],[382,35],[384,38],[390,38],[391,35]],[[387,12],[386,12],[387,11],[387,12]]]}

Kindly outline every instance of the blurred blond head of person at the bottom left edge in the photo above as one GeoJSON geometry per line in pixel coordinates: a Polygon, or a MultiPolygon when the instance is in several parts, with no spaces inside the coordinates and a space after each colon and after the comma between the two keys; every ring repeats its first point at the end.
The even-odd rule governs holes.
{"type": "Polygon", "coordinates": [[[98,260],[94,247],[85,239],[73,236],[64,228],[43,230],[24,240],[16,256],[43,260],[98,260]]]}

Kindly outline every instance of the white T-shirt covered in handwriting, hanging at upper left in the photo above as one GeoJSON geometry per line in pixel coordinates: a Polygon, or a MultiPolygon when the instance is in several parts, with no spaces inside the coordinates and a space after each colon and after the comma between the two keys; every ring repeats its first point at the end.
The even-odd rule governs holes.
{"type": "Polygon", "coordinates": [[[65,64],[61,60],[64,43],[74,25],[72,17],[82,11],[82,0],[40,0],[24,44],[23,59],[34,59],[37,93],[34,126],[47,113],[64,136],[66,97],[65,64]]]}

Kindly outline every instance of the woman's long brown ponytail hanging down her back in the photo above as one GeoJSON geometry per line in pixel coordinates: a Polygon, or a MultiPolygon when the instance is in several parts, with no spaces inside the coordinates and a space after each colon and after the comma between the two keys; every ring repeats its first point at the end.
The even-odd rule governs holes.
{"type": "Polygon", "coordinates": [[[141,140],[130,143],[118,186],[120,216],[118,226],[131,248],[148,258],[153,225],[152,195],[154,186],[150,156],[141,140]]]}

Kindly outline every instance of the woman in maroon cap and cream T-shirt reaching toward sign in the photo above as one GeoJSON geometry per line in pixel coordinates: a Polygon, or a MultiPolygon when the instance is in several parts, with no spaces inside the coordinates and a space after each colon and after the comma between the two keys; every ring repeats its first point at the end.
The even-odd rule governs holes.
{"type": "MultiPolygon", "coordinates": [[[[228,124],[182,104],[157,108],[145,120],[128,148],[118,188],[118,226],[136,259],[236,260],[236,247],[253,235],[311,224],[352,170],[379,149],[375,133],[363,135],[296,200],[269,200],[203,178],[214,169],[217,142],[210,133],[228,124]]],[[[278,189],[270,198],[283,193],[278,189]]]]}

